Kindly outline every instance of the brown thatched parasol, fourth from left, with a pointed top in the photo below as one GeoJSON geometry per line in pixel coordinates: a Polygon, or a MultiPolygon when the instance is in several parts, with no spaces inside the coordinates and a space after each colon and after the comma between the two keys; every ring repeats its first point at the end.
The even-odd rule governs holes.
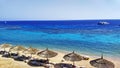
{"type": "Polygon", "coordinates": [[[57,53],[56,53],[56,52],[53,52],[53,51],[51,51],[51,50],[49,50],[49,49],[47,48],[46,50],[43,50],[43,51],[41,51],[41,52],[38,52],[37,55],[38,55],[38,56],[41,56],[41,57],[43,57],[43,58],[47,58],[47,60],[48,60],[48,58],[55,57],[55,56],[57,55],[57,53]]]}

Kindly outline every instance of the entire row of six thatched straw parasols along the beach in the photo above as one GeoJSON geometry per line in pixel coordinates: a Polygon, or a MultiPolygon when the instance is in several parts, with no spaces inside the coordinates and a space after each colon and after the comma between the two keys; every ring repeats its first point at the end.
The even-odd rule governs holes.
{"type": "MultiPolygon", "coordinates": [[[[17,51],[17,53],[19,53],[19,51],[23,51],[23,53],[25,53],[25,54],[29,53],[29,54],[31,54],[31,56],[33,54],[37,54],[38,56],[46,58],[47,60],[49,58],[52,58],[52,57],[55,57],[55,56],[58,55],[58,53],[56,53],[54,51],[51,51],[48,48],[46,50],[43,50],[43,51],[40,51],[40,52],[36,48],[32,48],[32,47],[25,48],[23,46],[11,46],[11,44],[2,44],[0,46],[0,48],[1,49],[3,48],[4,51],[5,51],[6,48],[9,48],[9,52],[17,51]]],[[[75,65],[75,61],[81,61],[81,60],[83,60],[84,57],[76,54],[73,51],[72,53],[64,55],[63,58],[66,61],[73,62],[73,65],[75,65]]],[[[101,56],[101,58],[98,58],[98,59],[95,59],[95,60],[91,60],[90,64],[92,66],[96,67],[96,68],[115,68],[115,65],[111,61],[108,61],[108,60],[104,59],[103,55],[101,56]]]]}

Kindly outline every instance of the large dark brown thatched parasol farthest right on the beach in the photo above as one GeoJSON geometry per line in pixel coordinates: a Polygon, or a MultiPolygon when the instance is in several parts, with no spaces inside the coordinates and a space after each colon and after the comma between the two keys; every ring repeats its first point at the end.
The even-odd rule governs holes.
{"type": "Polygon", "coordinates": [[[111,61],[103,58],[103,55],[101,58],[90,61],[90,64],[97,68],[115,68],[114,64],[111,61]]]}

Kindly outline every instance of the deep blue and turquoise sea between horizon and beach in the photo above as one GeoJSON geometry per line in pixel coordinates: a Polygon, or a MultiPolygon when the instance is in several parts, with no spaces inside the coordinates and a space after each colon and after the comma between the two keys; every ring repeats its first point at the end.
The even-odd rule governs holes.
{"type": "Polygon", "coordinates": [[[0,21],[0,44],[120,57],[119,25],[120,20],[0,21]]]}

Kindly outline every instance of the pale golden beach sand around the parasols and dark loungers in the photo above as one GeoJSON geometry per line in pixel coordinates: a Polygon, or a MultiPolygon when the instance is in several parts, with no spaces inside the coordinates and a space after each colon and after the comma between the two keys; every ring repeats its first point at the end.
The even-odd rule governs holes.
{"type": "MultiPolygon", "coordinates": [[[[53,58],[50,58],[50,62],[51,63],[69,63],[69,64],[72,64],[72,62],[70,61],[65,61],[63,59],[63,56],[65,54],[67,54],[66,52],[58,52],[58,55],[56,57],[53,57],[53,58]],[[61,61],[61,60],[64,60],[64,61],[61,61]]],[[[22,53],[21,53],[22,54],[22,53]]],[[[38,59],[44,59],[44,58],[41,58],[37,55],[33,55],[34,58],[38,58],[38,59]]],[[[96,59],[96,58],[99,58],[99,57],[91,57],[89,56],[89,60],[82,60],[82,61],[79,61],[79,62],[75,62],[75,65],[79,68],[79,67],[85,67],[85,68],[95,68],[95,67],[92,67],[89,62],[90,60],[93,60],[93,59],[96,59]]],[[[110,59],[110,58],[105,58],[109,61],[112,61],[114,64],[115,64],[115,68],[119,68],[120,67],[120,63],[119,63],[119,59],[110,59]]],[[[4,57],[1,57],[0,55],[0,68],[44,68],[44,67],[32,67],[32,66],[29,66],[27,63],[25,62],[21,62],[21,61],[15,61],[13,60],[12,58],[4,58],[4,57]]],[[[54,68],[53,65],[50,65],[50,68],[54,68]]]]}

